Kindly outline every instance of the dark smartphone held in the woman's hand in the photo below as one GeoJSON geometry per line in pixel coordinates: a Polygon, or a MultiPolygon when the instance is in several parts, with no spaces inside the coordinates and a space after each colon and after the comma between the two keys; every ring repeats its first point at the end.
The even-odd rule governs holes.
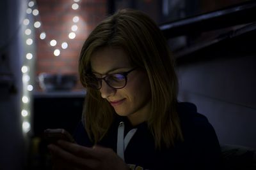
{"type": "Polygon", "coordinates": [[[65,129],[45,129],[44,139],[48,143],[56,143],[58,140],[76,143],[72,135],[65,129]]]}

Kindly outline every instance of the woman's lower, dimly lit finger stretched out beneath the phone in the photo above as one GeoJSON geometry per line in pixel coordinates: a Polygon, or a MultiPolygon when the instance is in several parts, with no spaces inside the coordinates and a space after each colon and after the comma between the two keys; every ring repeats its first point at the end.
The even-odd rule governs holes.
{"type": "Polygon", "coordinates": [[[61,162],[66,162],[70,165],[70,167],[73,168],[76,167],[81,169],[95,169],[95,167],[97,167],[99,164],[99,161],[96,159],[79,157],[73,153],[63,150],[63,148],[60,148],[57,145],[51,144],[48,145],[48,148],[51,150],[51,153],[54,155],[54,157],[58,157],[58,159],[61,159],[61,162]]]}

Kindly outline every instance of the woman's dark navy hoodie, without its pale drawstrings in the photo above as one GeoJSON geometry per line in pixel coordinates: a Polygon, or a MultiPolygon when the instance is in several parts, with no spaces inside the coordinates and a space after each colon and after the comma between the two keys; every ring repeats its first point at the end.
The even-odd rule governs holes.
{"type": "MultiPolygon", "coordinates": [[[[115,152],[117,145],[124,146],[124,141],[121,144],[118,141],[122,134],[118,132],[118,127],[123,122],[124,137],[129,136],[127,133],[131,129],[136,129],[124,151],[124,160],[131,169],[220,169],[220,144],[207,118],[197,113],[196,106],[192,103],[178,103],[177,110],[184,142],[177,142],[172,148],[157,150],[146,122],[134,127],[127,117],[119,116],[98,145],[112,148],[115,152]]],[[[77,126],[74,138],[79,145],[93,145],[84,130],[83,122],[77,126]]]]}

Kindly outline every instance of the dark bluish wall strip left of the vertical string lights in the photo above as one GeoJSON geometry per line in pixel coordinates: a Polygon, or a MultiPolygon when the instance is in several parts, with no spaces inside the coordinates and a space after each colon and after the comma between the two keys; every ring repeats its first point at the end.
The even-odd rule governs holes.
{"type": "Polygon", "coordinates": [[[23,169],[26,159],[20,118],[20,35],[25,4],[21,0],[0,1],[0,169],[23,169]]]}

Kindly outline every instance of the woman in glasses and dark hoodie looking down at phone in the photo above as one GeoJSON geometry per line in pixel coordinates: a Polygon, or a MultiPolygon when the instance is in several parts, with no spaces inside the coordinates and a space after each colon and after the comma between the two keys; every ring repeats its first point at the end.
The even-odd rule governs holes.
{"type": "Polygon", "coordinates": [[[169,47],[147,15],[120,10],[86,39],[87,89],[77,144],[49,145],[56,169],[217,169],[220,145],[207,118],[178,103],[169,47]]]}

